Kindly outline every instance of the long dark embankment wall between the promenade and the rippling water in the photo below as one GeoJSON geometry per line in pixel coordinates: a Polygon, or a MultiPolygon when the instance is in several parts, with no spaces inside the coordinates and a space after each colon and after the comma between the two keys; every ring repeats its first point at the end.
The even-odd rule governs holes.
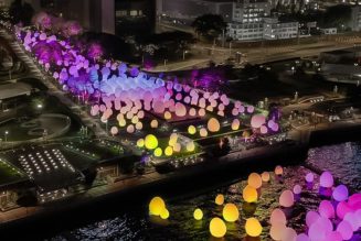
{"type": "MultiPolygon", "coordinates": [[[[311,130],[304,133],[301,144],[286,142],[210,158],[169,174],[153,173],[129,182],[93,188],[70,199],[38,208],[26,216],[0,224],[0,233],[19,237],[24,233],[43,239],[63,230],[73,229],[97,220],[117,217],[125,210],[144,209],[152,196],[168,201],[195,196],[237,180],[251,172],[273,171],[275,165],[299,164],[307,158],[309,146],[359,141],[360,125],[339,125],[332,129],[311,130]]],[[[317,172],[317,171],[315,171],[317,172]]],[[[4,220],[3,220],[4,221],[4,220]]],[[[31,237],[32,238],[32,237],[31,237]]]]}

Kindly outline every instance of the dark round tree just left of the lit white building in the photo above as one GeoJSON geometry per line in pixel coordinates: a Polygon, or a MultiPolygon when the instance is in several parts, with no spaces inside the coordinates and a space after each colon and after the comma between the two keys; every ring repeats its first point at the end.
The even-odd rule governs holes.
{"type": "Polygon", "coordinates": [[[193,21],[192,28],[197,34],[214,39],[225,30],[226,23],[221,15],[204,14],[193,21]]]}

